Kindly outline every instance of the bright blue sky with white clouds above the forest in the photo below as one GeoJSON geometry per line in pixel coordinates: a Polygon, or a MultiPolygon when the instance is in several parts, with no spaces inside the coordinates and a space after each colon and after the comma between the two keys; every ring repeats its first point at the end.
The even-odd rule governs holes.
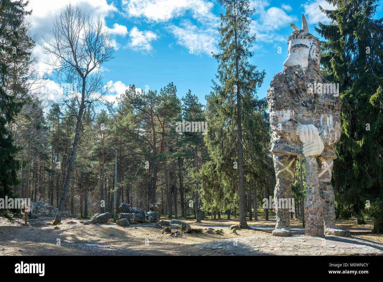
{"type": "MultiPolygon", "coordinates": [[[[69,3],[30,1],[36,38],[49,36],[55,11],[65,8],[65,2],[69,3]]],[[[159,91],[173,81],[177,86],[178,97],[181,98],[191,89],[205,104],[205,95],[211,91],[211,79],[215,78],[218,66],[210,54],[211,51],[218,52],[217,27],[219,13],[222,12],[218,2],[79,0],[77,4],[90,15],[100,13],[113,39],[115,59],[103,65],[104,82],[112,86],[106,100],[114,101],[129,84],[159,91]]],[[[301,15],[304,14],[309,31],[318,36],[314,25],[318,25],[318,21],[328,22],[326,16],[320,13],[318,5],[332,8],[324,0],[251,1],[251,7],[256,9],[251,30],[257,34],[257,40],[254,45],[255,56],[250,59],[250,63],[266,72],[264,83],[258,89],[259,98],[266,96],[274,74],[283,70],[283,62],[287,58],[286,41],[292,31],[288,24],[294,23],[301,27],[301,15]],[[282,47],[282,54],[278,54],[278,47],[282,47]]],[[[376,18],[381,17],[383,12],[380,6],[376,18]]],[[[43,56],[41,61],[44,61],[43,56]]],[[[44,69],[43,66],[41,68],[44,69]]],[[[51,80],[53,84],[53,76],[51,80]]]]}

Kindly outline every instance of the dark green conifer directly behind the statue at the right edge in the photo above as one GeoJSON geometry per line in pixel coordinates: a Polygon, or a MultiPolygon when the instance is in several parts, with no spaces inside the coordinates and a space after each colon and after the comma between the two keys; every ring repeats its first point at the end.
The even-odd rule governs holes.
{"type": "MultiPolygon", "coordinates": [[[[383,19],[374,19],[376,0],[326,0],[329,25],[316,28],[326,78],[339,82],[342,129],[336,144],[333,181],[343,214],[374,218],[383,231],[383,19]],[[366,205],[367,203],[367,205],[366,205]],[[346,211],[346,213],[345,213],[346,211]]],[[[339,210],[337,211],[339,213],[339,210]]]]}

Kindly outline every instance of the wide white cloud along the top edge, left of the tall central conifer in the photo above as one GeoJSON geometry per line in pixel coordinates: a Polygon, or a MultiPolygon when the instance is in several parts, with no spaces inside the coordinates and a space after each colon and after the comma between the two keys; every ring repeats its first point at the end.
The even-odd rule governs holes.
{"type": "Polygon", "coordinates": [[[168,21],[190,11],[200,21],[212,20],[214,4],[204,0],[123,0],[122,6],[128,16],[147,18],[148,21],[168,21]]]}

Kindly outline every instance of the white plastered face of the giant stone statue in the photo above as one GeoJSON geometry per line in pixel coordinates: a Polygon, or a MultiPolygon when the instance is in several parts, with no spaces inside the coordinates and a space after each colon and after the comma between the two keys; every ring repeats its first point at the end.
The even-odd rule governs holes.
{"type": "Polygon", "coordinates": [[[306,68],[309,64],[309,50],[313,41],[310,39],[295,39],[291,38],[288,43],[288,57],[283,63],[283,66],[300,65],[301,68],[306,68]]]}

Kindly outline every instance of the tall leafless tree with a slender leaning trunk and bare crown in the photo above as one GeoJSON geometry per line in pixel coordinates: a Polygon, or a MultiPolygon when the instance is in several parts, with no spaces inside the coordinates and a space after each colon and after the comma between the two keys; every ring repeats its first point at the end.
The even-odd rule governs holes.
{"type": "Polygon", "coordinates": [[[114,49],[100,17],[93,20],[78,6],[67,5],[64,13],[53,21],[52,32],[53,39],[44,38],[42,47],[54,58],[49,64],[54,67],[62,86],[64,84],[62,105],[71,109],[77,118],[69,166],[52,224],[57,225],[61,222],[85,108],[93,109],[108,90],[103,87],[100,66],[113,58],[114,49]]]}

